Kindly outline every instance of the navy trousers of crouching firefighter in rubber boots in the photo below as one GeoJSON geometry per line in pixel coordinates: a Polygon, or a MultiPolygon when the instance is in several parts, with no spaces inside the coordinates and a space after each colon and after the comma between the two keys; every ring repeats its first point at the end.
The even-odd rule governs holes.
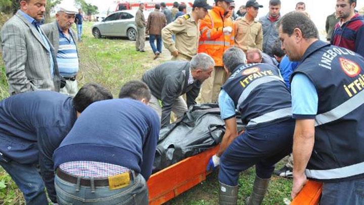
{"type": "Polygon", "coordinates": [[[222,154],[219,181],[229,186],[237,186],[239,173],[253,165],[259,178],[270,178],[275,164],[292,152],[294,128],[294,119],[289,119],[246,130],[222,154]]]}

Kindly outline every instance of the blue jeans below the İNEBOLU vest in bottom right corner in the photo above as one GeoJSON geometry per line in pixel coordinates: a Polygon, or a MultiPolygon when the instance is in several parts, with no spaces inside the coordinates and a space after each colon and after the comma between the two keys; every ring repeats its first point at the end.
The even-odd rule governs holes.
{"type": "Polygon", "coordinates": [[[325,182],[321,205],[363,205],[364,178],[344,182],[325,182]]]}

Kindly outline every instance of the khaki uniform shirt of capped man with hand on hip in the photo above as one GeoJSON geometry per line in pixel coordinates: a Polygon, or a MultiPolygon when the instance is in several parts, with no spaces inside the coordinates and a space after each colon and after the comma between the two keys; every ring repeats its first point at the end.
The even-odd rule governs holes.
{"type": "Polygon", "coordinates": [[[200,30],[191,13],[178,17],[162,29],[164,47],[173,53],[192,58],[197,54],[200,30]],[[175,34],[175,41],[172,35],[175,34]]]}

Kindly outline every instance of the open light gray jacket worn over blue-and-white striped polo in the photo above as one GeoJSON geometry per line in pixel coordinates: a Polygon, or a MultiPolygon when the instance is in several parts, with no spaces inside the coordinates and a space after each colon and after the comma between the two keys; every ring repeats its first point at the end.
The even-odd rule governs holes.
{"type": "MultiPolygon", "coordinates": [[[[59,49],[59,28],[58,28],[57,21],[54,21],[52,23],[43,24],[40,27],[43,30],[44,34],[50,40],[53,48],[55,49],[55,53],[57,55],[58,49],[59,49]]],[[[76,34],[72,29],[69,29],[69,30],[70,30],[70,35],[73,39],[73,42],[76,44],[76,40],[75,40],[76,34]]],[[[76,45],[76,50],[77,50],[77,45],[76,45]]],[[[77,56],[78,56],[78,50],[77,50],[77,56]]]]}

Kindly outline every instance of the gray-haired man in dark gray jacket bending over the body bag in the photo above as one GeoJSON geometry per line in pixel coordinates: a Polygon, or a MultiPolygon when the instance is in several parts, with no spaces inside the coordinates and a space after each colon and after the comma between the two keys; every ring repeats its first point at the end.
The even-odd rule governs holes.
{"type": "Polygon", "coordinates": [[[211,76],[214,60],[199,53],[189,61],[170,61],[148,70],[142,80],[151,90],[149,106],[161,118],[161,126],[168,126],[171,111],[177,119],[184,116],[188,107],[196,104],[201,84],[211,76]],[[186,100],[181,95],[186,94],[186,100]],[[159,101],[162,101],[162,108],[159,101]]]}

